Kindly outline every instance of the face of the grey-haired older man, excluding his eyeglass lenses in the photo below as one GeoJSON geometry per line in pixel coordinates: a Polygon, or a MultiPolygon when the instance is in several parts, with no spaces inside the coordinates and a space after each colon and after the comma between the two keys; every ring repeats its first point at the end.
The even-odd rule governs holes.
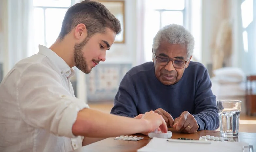
{"type": "MultiPolygon", "coordinates": [[[[187,49],[185,45],[169,44],[166,41],[162,41],[160,43],[155,55],[157,57],[168,57],[171,59],[183,59],[187,61],[187,49]]],[[[153,61],[155,66],[155,76],[164,85],[172,85],[177,83],[181,79],[189,64],[188,61],[185,63],[183,68],[178,69],[173,66],[172,61],[170,61],[166,66],[157,64],[156,58],[153,58],[153,61]]]]}

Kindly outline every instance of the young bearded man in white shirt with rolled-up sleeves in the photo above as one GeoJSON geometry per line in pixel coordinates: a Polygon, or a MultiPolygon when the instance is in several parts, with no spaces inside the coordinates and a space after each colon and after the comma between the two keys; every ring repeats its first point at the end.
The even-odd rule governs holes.
{"type": "Polygon", "coordinates": [[[50,47],[18,62],[0,84],[0,151],[72,151],[86,137],[151,132],[167,126],[150,111],[132,119],[89,109],[74,96],[70,78],[76,66],[89,73],[120,32],[120,22],[102,4],[70,7],[50,47]]]}

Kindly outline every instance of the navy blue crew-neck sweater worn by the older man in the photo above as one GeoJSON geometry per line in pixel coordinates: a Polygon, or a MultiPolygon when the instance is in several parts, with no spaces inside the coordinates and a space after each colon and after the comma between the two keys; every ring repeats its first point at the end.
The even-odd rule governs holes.
{"type": "Polygon", "coordinates": [[[201,63],[191,61],[174,85],[162,84],[154,71],[153,62],[129,70],[120,83],[111,113],[135,117],[162,108],[175,119],[188,111],[197,120],[198,130],[219,127],[216,96],[211,91],[208,71],[201,63]]]}

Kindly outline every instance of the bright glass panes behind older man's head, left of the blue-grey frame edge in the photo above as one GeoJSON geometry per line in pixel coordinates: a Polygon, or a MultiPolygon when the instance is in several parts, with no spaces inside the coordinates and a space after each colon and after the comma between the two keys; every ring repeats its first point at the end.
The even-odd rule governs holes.
{"type": "Polygon", "coordinates": [[[152,43],[157,31],[168,24],[186,26],[185,0],[146,0],[145,61],[152,61],[152,43]]]}

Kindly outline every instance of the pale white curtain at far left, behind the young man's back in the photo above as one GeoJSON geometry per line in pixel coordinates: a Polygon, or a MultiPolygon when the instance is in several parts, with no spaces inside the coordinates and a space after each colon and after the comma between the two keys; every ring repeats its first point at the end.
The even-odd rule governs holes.
{"type": "Polygon", "coordinates": [[[2,0],[2,51],[4,75],[33,48],[33,1],[2,0]]]}

